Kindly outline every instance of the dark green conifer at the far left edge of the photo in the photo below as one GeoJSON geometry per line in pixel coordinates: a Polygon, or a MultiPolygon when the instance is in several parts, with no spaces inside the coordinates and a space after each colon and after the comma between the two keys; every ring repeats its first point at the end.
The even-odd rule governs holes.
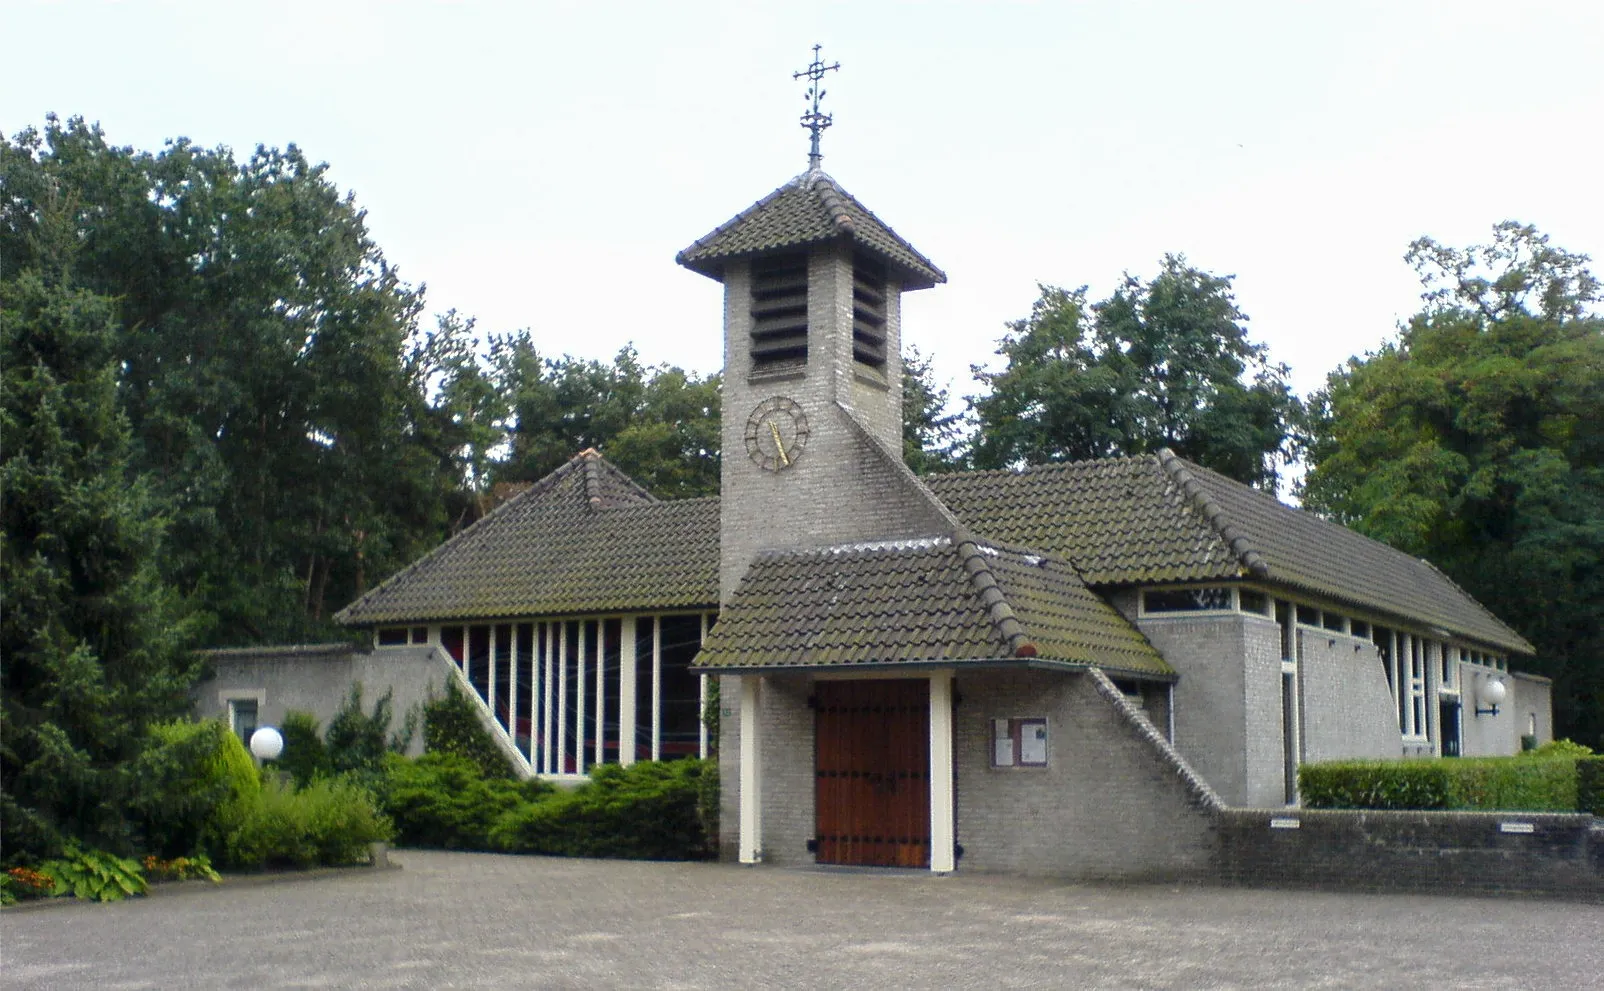
{"type": "Polygon", "coordinates": [[[157,571],[165,518],[130,465],[111,300],[71,282],[66,207],[0,279],[0,847],[125,848],[130,760],[188,709],[194,630],[157,571]]]}

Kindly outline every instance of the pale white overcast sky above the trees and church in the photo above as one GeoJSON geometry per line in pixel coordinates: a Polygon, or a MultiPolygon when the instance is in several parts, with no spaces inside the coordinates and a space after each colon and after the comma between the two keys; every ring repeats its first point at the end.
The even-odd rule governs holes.
{"type": "Polygon", "coordinates": [[[1237,276],[1301,393],[1418,303],[1404,263],[1535,223],[1604,268],[1604,3],[50,3],[0,0],[0,128],[300,144],[480,330],[699,372],[674,253],[807,165],[942,266],[905,337],[954,394],[1036,282],[1165,252],[1237,276]]]}

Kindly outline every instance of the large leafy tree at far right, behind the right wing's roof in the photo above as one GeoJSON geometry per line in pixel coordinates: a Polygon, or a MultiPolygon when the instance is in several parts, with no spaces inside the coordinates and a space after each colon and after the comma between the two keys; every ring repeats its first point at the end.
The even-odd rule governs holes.
{"type": "Polygon", "coordinates": [[[1309,508],[1429,558],[1535,646],[1559,734],[1604,734],[1604,319],[1585,255],[1423,237],[1424,308],[1312,399],[1309,508]]]}

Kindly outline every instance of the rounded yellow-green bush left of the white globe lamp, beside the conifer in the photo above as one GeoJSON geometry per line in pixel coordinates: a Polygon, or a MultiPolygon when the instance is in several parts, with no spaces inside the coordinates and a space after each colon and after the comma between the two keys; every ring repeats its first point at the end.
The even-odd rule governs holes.
{"type": "Polygon", "coordinates": [[[128,821],[140,845],[164,858],[205,847],[218,808],[260,789],[255,762],[221,720],[152,726],[132,778],[128,821]]]}

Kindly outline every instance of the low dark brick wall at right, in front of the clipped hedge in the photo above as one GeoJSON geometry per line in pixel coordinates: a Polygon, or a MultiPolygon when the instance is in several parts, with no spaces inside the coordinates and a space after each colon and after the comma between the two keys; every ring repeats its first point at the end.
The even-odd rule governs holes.
{"type": "Polygon", "coordinates": [[[1604,824],[1588,815],[1230,808],[1219,880],[1394,893],[1604,901],[1604,824]]]}

